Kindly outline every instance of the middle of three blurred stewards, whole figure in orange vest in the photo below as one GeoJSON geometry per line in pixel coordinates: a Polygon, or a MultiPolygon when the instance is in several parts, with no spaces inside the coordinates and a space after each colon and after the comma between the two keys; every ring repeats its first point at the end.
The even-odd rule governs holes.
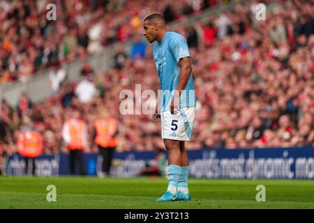
{"type": "Polygon", "coordinates": [[[73,108],[72,118],[63,124],[62,137],[70,151],[70,174],[75,175],[76,162],[81,175],[85,175],[83,151],[87,145],[87,124],[81,119],[78,109],[73,108]]]}

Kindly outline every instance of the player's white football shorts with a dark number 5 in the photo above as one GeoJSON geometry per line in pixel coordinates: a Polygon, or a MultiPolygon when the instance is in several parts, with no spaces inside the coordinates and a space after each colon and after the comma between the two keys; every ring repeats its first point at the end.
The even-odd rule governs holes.
{"type": "Polygon", "coordinates": [[[181,108],[177,114],[171,114],[170,110],[160,112],[161,138],[189,141],[194,116],[195,107],[181,108]]]}

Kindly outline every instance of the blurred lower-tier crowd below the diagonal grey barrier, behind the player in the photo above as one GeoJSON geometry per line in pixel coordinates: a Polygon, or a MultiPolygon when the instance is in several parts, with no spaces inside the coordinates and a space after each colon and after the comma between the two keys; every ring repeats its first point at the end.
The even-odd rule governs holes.
{"type": "MultiPolygon", "coordinates": [[[[188,40],[193,63],[197,107],[189,150],[314,146],[314,4],[272,3],[267,5],[267,20],[257,21],[256,3],[238,4],[205,22],[174,30],[188,40]]],[[[89,138],[100,114],[117,118],[117,151],[163,148],[159,121],[119,112],[125,100],[119,98],[122,90],[135,95],[135,84],[141,84],[142,91],[158,90],[152,46],[144,47],[144,55],[142,47],[133,52],[141,41],[135,36],[131,52],[118,45],[106,72],[83,63],[79,82],[68,82],[59,68],[54,75],[63,78],[54,97],[43,103],[33,105],[27,95],[17,109],[3,102],[2,123],[8,128],[0,130],[5,135],[2,150],[14,153],[16,134],[33,125],[43,135],[46,154],[65,152],[61,128],[73,108],[82,110],[89,138]]],[[[87,153],[96,151],[92,143],[87,148],[87,153]]]]}

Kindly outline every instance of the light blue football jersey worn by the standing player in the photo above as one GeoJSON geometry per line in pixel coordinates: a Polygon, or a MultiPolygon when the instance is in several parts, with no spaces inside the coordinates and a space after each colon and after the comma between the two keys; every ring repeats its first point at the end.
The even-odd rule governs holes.
{"type": "MultiPolygon", "coordinates": [[[[160,108],[161,112],[165,112],[170,109],[174,90],[177,90],[180,73],[179,60],[190,56],[188,44],[179,33],[167,32],[161,43],[154,45],[153,56],[160,81],[160,108]]],[[[184,90],[180,95],[180,108],[195,107],[196,98],[192,73],[190,73],[184,90]]]]}

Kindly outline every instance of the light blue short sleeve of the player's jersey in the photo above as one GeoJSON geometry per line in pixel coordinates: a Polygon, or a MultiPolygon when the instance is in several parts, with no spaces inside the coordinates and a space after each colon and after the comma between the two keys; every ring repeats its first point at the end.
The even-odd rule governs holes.
{"type": "Polygon", "coordinates": [[[177,63],[179,63],[180,59],[190,56],[190,53],[188,52],[188,43],[186,43],[186,40],[181,35],[171,37],[169,48],[177,63]]]}

